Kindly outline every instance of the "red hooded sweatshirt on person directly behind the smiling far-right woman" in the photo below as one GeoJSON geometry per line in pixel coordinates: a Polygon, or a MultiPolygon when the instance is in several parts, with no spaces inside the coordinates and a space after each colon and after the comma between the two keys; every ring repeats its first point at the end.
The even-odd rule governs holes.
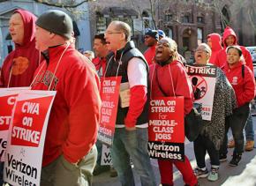
{"type": "MultiPolygon", "coordinates": [[[[235,37],[234,45],[238,45],[237,44],[237,35],[236,35],[236,33],[234,32],[234,30],[230,26],[227,26],[224,30],[223,37],[222,37],[222,44],[223,44],[224,48],[217,54],[216,60],[215,60],[215,65],[220,67],[220,68],[225,66],[225,64],[227,63],[226,48],[228,46],[227,46],[225,40],[230,35],[233,35],[235,37]]],[[[247,48],[245,48],[244,46],[239,46],[239,47],[242,49],[243,56],[245,57],[246,66],[248,66],[251,69],[251,71],[253,71],[252,56],[251,56],[249,50],[247,48]]]]}

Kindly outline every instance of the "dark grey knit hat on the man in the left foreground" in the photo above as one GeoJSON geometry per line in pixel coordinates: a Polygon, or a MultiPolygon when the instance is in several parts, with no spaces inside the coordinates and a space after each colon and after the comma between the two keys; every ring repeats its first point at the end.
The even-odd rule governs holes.
{"type": "Polygon", "coordinates": [[[51,33],[64,36],[67,39],[72,37],[72,19],[64,11],[46,11],[41,14],[41,16],[36,20],[35,24],[51,33]]]}

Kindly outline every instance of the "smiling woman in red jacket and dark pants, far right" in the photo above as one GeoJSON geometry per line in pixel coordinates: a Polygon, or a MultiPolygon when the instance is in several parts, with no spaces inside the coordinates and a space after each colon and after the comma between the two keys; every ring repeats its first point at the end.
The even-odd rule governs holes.
{"type": "Polygon", "coordinates": [[[249,115],[249,102],[254,98],[254,76],[250,68],[242,63],[242,49],[239,46],[227,48],[227,61],[223,68],[224,73],[230,81],[237,97],[237,108],[233,110],[233,115],[226,118],[225,138],[220,150],[220,161],[227,160],[227,132],[232,130],[235,139],[235,149],[230,166],[237,166],[244,152],[243,129],[249,115]]]}

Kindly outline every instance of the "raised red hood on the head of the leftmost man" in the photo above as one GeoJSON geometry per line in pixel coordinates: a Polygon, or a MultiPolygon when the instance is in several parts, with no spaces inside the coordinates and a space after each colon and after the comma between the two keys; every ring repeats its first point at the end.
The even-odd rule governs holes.
{"type": "Polygon", "coordinates": [[[15,44],[15,47],[26,48],[30,46],[31,41],[34,41],[35,21],[37,18],[34,16],[33,13],[22,9],[18,9],[14,11],[14,13],[19,13],[24,23],[24,41],[22,45],[15,44]]]}

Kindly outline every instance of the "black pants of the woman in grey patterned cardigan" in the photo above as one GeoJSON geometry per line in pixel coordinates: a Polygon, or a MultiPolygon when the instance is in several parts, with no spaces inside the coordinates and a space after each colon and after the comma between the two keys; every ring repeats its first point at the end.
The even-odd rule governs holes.
{"type": "Polygon", "coordinates": [[[216,150],[214,143],[205,136],[199,135],[194,141],[194,153],[197,165],[200,168],[206,167],[206,153],[209,154],[213,167],[220,165],[219,152],[216,150]]]}

